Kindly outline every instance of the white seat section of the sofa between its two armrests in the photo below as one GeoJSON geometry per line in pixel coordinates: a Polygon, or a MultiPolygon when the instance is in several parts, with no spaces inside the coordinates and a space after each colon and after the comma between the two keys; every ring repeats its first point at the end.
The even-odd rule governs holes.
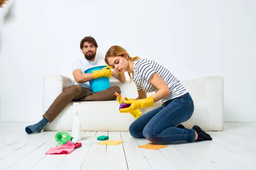
{"type": "MultiPolygon", "coordinates": [[[[60,130],[72,129],[73,102],[64,108],[60,114],[60,130]]],[[[158,108],[162,102],[154,106],[140,109],[143,113],[158,108]]],[[[204,101],[194,101],[195,109],[192,117],[183,123],[192,128],[199,125],[203,130],[208,127],[208,111],[204,101]]],[[[129,126],[135,118],[130,113],[119,113],[117,101],[79,102],[78,116],[81,120],[81,130],[87,131],[129,131],[129,126]],[[111,106],[111,107],[110,107],[111,106]]]]}

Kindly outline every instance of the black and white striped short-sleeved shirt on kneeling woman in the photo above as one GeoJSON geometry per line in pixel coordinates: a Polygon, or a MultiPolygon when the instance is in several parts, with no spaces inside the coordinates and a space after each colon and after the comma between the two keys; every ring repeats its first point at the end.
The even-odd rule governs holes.
{"type": "Polygon", "coordinates": [[[134,61],[134,74],[132,80],[137,85],[137,90],[143,90],[147,93],[158,89],[152,85],[149,80],[154,73],[157,73],[163,81],[168,85],[171,94],[162,99],[162,102],[167,102],[170,99],[182,96],[188,93],[186,88],[180,81],[165,67],[149,59],[139,59],[134,61]]]}

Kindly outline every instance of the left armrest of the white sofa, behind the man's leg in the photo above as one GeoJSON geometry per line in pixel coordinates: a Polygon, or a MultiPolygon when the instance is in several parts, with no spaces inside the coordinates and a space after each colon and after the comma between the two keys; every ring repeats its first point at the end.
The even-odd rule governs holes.
{"type": "Polygon", "coordinates": [[[73,79],[60,74],[45,75],[43,85],[43,113],[47,111],[52,102],[65,88],[73,84],[73,79]]]}

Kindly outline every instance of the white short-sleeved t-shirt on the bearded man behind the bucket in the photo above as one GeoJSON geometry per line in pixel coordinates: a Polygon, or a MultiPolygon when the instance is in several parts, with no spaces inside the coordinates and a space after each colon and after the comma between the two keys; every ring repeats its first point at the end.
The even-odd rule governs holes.
{"type": "MultiPolygon", "coordinates": [[[[90,67],[96,66],[96,65],[105,65],[105,61],[103,59],[99,59],[99,58],[95,58],[94,61],[90,61],[85,58],[78,59],[72,65],[72,72],[76,69],[80,69],[81,72],[84,74],[85,70],[87,70],[90,67]]],[[[91,90],[89,81],[80,83],[80,82],[76,82],[76,80],[75,80],[75,85],[81,85],[82,87],[88,88],[91,90]]]]}

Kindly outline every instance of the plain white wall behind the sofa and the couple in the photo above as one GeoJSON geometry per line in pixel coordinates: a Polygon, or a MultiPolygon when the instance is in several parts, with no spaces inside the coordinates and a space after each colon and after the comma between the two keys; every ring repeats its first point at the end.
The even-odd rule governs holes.
{"type": "Polygon", "coordinates": [[[102,58],[120,45],[179,79],[224,77],[224,120],[256,121],[254,0],[16,0],[2,14],[12,4],[0,27],[1,121],[40,120],[43,76],[72,77],[87,35],[102,58]]]}

